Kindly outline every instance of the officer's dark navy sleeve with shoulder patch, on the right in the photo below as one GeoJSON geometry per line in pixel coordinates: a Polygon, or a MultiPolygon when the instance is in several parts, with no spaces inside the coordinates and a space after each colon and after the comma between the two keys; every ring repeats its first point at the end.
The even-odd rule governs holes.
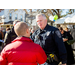
{"type": "Polygon", "coordinates": [[[63,64],[67,63],[67,52],[59,30],[54,31],[53,38],[58,49],[59,58],[63,64]]]}

